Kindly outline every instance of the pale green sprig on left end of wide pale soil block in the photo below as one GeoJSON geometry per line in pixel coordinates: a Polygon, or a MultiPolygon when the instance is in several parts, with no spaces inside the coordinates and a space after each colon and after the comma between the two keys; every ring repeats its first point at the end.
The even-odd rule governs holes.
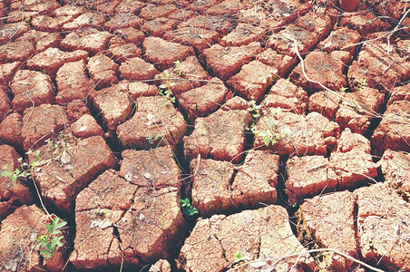
{"type": "Polygon", "coordinates": [[[250,127],[250,131],[252,131],[253,134],[255,134],[256,136],[262,137],[263,142],[266,146],[268,146],[269,144],[275,145],[276,143],[278,143],[279,140],[288,136],[290,132],[288,131],[288,129],[284,129],[278,132],[275,118],[272,115],[264,116],[260,119],[260,121],[263,121],[268,127],[268,129],[265,131],[259,131],[255,123],[253,123],[250,127]]]}

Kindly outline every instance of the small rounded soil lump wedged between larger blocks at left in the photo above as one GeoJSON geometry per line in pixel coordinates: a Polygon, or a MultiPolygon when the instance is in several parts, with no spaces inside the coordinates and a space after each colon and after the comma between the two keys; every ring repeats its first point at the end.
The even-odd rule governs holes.
{"type": "Polygon", "coordinates": [[[92,136],[102,136],[104,133],[97,121],[88,113],[83,114],[79,119],[74,121],[70,126],[70,131],[75,137],[82,139],[92,136]]]}

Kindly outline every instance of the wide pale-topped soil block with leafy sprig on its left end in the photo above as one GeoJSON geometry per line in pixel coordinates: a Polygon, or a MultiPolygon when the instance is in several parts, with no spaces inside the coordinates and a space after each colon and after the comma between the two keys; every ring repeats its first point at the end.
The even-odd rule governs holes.
{"type": "Polygon", "coordinates": [[[255,130],[255,148],[275,151],[279,155],[326,155],[340,129],[336,122],[317,112],[304,116],[280,108],[267,108],[255,130]],[[259,132],[272,134],[271,139],[278,142],[266,145],[266,137],[258,135],[259,132]]]}

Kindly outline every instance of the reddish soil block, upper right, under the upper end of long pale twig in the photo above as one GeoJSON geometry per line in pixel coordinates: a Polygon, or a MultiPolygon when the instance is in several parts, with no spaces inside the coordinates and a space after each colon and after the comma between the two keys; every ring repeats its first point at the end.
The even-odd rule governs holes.
{"type": "Polygon", "coordinates": [[[294,24],[288,24],[284,30],[272,34],[268,38],[267,45],[278,51],[278,53],[296,57],[295,42],[298,44],[298,53],[303,54],[309,52],[318,41],[319,38],[315,32],[294,24]]]}

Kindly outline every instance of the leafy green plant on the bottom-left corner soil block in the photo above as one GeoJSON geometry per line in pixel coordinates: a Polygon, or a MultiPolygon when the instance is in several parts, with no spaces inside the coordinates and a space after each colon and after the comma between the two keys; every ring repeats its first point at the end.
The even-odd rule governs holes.
{"type": "Polygon", "coordinates": [[[61,229],[65,225],[67,225],[67,222],[63,220],[60,221],[59,218],[54,218],[51,225],[48,223],[45,225],[49,234],[35,238],[37,242],[36,249],[40,249],[40,254],[43,257],[49,258],[57,247],[63,247],[63,243],[61,242],[63,238],[61,229]]]}

